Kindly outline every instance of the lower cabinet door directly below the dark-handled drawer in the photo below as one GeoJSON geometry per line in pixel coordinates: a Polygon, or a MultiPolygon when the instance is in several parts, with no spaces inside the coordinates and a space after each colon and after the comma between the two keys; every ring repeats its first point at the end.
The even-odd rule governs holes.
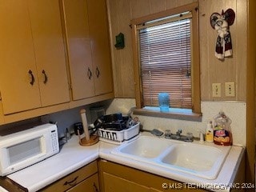
{"type": "Polygon", "coordinates": [[[98,186],[98,174],[94,174],[90,176],[90,178],[86,178],[86,180],[78,183],[78,185],[74,186],[70,190],[67,190],[67,192],[99,192],[99,186],[98,186]]]}

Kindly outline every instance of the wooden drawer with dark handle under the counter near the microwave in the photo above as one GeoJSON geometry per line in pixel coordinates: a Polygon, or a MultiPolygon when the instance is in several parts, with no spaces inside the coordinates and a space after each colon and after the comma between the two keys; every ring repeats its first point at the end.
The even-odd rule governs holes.
{"type": "Polygon", "coordinates": [[[43,192],[62,192],[76,186],[79,182],[82,182],[86,178],[98,172],[97,162],[91,162],[87,166],[83,166],[81,169],[74,171],[64,178],[59,179],[50,186],[46,186],[41,191],[43,192]]]}

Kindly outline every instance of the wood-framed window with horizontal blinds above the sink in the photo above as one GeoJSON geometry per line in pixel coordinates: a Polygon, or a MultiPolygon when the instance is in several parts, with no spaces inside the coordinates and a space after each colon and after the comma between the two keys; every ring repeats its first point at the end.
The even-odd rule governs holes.
{"type": "Polygon", "coordinates": [[[171,108],[200,114],[197,6],[132,20],[137,108],[158,108],[167,92],[171,108]]]}

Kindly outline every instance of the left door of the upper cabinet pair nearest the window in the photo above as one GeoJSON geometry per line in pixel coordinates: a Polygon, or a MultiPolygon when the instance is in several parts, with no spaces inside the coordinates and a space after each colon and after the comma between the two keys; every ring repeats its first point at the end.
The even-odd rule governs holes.
{"type": "Polygon", "coordinates": [[[66,42],[74,100],[94,96],[94,69],[90,48],[86,0],[63,0],[66,42]]]}

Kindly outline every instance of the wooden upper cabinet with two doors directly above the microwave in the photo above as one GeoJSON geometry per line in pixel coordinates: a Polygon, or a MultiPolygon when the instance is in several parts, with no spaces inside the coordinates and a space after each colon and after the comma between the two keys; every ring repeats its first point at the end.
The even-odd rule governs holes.
{"type": "Polygon", "coordinates": [[[58,0],[2,0],[0,27],[3,113],[69,102],[58,0]]]}

